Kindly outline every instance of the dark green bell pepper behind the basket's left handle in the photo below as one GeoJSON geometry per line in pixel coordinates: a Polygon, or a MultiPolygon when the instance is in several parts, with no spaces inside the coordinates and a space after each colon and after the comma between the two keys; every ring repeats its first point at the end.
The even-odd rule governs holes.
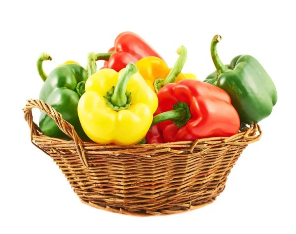
{"type": "MultiPolygon", "coordinates": [[[[69,61],[53,69],[47,76],[42,68],[44,60],[51,60],[51,57],[42,53],[37,60],[39,75],[45,81],[39,93],[39,100],[43,100],[62,114],[63,119],[73,125],[75,132],[83,141],[90,141],[81,127],[77,113],[78,101],[85,92],[85,81],[88,78],[86,70],[69,61]]],[[[39,128],[47,136],[70,139],[44,111],[41,111],[39,128]]]]}

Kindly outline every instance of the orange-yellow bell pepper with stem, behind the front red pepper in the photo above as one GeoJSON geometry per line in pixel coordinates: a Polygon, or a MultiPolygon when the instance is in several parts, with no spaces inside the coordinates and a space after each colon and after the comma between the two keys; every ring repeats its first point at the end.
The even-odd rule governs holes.
{"type": "Polygon", "coordinates": [[[162,59],[153,56],[140,59],[136,63],[139,73],[156,93],[168,83],[178,83],[184,79],[197,79],[192,73],[183,74],[181,72],[187,58],[186,48],[181,46],[177,53],[180,56],[173,68],[168,68],[162,59]]]}

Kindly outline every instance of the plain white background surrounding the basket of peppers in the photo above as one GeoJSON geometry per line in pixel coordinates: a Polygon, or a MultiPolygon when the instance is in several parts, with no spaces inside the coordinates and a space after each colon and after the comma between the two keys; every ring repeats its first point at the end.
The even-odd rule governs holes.
{"type": "MultiPolygon", "coordinates": [[[[193,2],[1,1],[1,234],[296,233],[293,1],[193,2]],[[36,69],[40,52],[53,57],[44,62],[47,73],[66,60],[85,66],[87,53],[107,52],[123,31],[142,36],[169,66],[184,45],[183,71],[199,79],[214,71],[210,42],[219,33],[224,64],[250,54],[273,79],[278,102],[260,123],[262,138],[243,152],[214,203],[146,218],[95,209],[79,201],[50,157],[31,144],[22,107],[38,98],[42,86],[36,69]]],[[[37,123],[38,117],[35,110],[37,123]]]]}

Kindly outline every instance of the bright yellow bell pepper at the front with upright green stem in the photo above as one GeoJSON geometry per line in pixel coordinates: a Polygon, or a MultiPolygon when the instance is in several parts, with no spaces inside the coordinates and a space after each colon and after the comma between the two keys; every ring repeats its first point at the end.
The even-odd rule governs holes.
{"type": "Polygon", "coordinates": [[[129,63],[118,73],[104,68],[90,75],[78,102],[78,116],[93,141],[131,145],[144,139],[157,106],[156,94],[129,63]]]}

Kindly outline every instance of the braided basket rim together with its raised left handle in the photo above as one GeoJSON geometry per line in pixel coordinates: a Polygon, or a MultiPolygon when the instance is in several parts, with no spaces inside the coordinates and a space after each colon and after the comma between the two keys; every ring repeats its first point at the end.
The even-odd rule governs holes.
{"type": "MultiPolygon", "coordinates": [[[[45,103],[43,100],[37,99],[30,99],[27,100],[27,104],[23,107],[24,118],[28,122],[29,128],[31,130],[31,142],[37,146],[40,150],[45,152],[41,149],[36,142],[39,140],[45,140],[50,142],[51,145],[58,146],[59,144],[67,144],[69,146],[74,146],[77,149],[77,153],[82,161],[83,166],[88,167],[88,163],[85,157],[85,150],[90,150],[92,148],[96,149],[105,149],[110,151],[117,151],[118,149],[121,150],[122,153],[132,153],[138,150],[149,150],[149,149],[162,149],[170,152],[175,153],[183,153],[184,151],[180,149],[174,148],[183,148],[183,147],[190,147],[188,153],[192,153],[195,147],[202,146],[210,147],[210,146],[217,146],[219,144],[223,145],[247,145],[258,141],[262,136],[261,128],[258,124],[250,124],[249,126],[246,125],[242,128],[237,134],[227,137],[208,137],[208,138],[200,138],[194,141],[176,141],[176,142],[168,142],[168,143],[153,143],[153,144],[135,144],[135,145],[111,145],[111,144],[98,144],[96,142],[85,142],[82,141],[79,136],[76,134],[74,127],[67,121],[62,118],[62,115],[57,112],[52,106],[45,103]],[[49,115],[58,125],[58,127],[67,134],[71,140],[65,140],[55,137],[50,137],[42,134],[41,130],[39,129],[38,125],[33,121],[33,114],[32,109],[38,108],[43,110],[47,115],[49,115]]],[[[46,152],[45,152],[46,153],[46,152]]],[[[47,154],[47,153],[46,153],[47,154]]]]}

